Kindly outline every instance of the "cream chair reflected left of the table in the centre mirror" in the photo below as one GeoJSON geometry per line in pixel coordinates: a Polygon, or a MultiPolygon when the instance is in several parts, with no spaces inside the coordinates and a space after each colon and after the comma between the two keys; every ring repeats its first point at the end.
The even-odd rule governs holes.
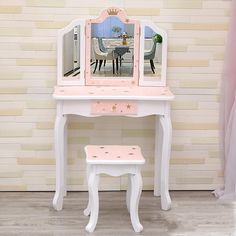
{"type": "Polygon", "coordinates": [[[98,43],[98,38],[93,38],[93,52],[94,52],[94,57],[96,60],[95,68],[93,73],[96,72],[98,61],[99,61],[99,71],[102,66],[102,62],[104,60],[111,60],[112,61],[112,66],[113,66],[113,74],[115,74],[115,62],[116,58],[118,58],[118,55],[114,53],[113,51],[111,52],[102,52],[99,47],[98,43]]]}

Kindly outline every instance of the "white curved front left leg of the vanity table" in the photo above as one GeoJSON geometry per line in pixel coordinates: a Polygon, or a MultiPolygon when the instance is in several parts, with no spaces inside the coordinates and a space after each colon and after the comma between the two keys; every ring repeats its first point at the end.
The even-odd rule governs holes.
{"type": "Polygon", "coordinates": [[[56,155],[56,193],[53,198],[53,207],[60,211],[63,206],[63,197],[66,193],[65,186],[65,126],[66,115],[56,117],[55,121],[55,155],[56,155]]]}

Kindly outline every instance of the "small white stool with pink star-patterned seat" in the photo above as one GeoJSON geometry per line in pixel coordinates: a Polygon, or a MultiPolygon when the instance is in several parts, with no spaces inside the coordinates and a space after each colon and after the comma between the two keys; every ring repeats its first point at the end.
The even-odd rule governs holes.
{"type": "Polygon", "coordinates": [[[85,147],[87,162],[87,179],[89,201],[84,210],[84,215],[89,216],[86,226],[88,232],[93,232],[98,219],[99,198],[98,182],[99,174],[121,176],[128,174],[128,189],[126,193],[126,205],[130,213],[130,219],[135,232],[141,232],[143,226],[138,216],[139,199],[142,192],[141,165],[145,163],[141,149],[138,146],[114,146],[114,145],[89,145],[85,147]]]}

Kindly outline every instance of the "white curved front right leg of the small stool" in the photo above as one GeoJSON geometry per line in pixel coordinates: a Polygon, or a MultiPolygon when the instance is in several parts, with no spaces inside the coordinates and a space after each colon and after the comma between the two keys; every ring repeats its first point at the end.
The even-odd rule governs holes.
{"type": "Polygon", "coordinates": [[[130,218],[131,223],[134,228],[134,231],[139,233],[143,230],[143,226],[140,224],[139,216],[138,216],[138,206],[139,199],[142,192],[142,176],[140,172],[131,175],[131,198],[130,201],[130,218]]]}

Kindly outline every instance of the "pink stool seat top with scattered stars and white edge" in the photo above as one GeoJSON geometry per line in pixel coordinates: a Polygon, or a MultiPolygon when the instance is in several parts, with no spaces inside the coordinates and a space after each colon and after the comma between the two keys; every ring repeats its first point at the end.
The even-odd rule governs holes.
{"type": "Polygon", "coordinates": [[[144,164],[139,146],[88,145],[86,161],[90,164],[144,164]]]}

